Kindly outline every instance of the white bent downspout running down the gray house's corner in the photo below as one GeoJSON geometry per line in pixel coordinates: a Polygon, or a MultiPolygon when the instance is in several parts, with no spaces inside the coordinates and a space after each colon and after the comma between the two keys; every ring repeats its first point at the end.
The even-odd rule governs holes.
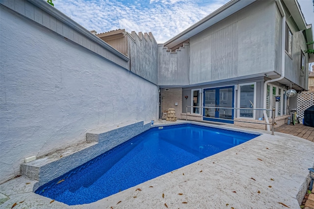
{"type": "MultiPolygon", "coordinates": [[[[285,78],[285,43],[286,43],[286,14],[283,5],[281,4],[280,0],[276,0],[276,3],[279,7],[279,11],[282,16],[282,39],[281,39],[281,76],[280,78],[266,80],[264,82],[264,101],[263,101],[263,108],[266,109],[266,97],[267,97],[267,83],[279,81],[285,78]]],[[[266,123],[269,124],[268,116],[266,114],[266,110],[263,110],[263,115],[265,118],[266,123]]],[[[270,126],[267,125],[267,131],[270,131],[270,126]]]]}

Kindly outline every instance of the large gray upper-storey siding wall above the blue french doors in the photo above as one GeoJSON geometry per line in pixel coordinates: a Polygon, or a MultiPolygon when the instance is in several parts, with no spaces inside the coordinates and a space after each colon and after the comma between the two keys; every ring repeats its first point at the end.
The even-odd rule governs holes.
{"type": "Polygon", "coordinates": [[[190,38],[190,84],[274,71],[275,2],[258,1],[190,38]]]}

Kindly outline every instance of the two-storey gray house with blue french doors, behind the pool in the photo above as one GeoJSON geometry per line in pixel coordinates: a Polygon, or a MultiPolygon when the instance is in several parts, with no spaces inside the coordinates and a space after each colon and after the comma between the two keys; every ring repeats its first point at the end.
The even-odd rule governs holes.
{"type": "MultiPolygon", "coordinates": [[[[186,106],[206,106],[212,108],[187,108],[188,119],[234,119],[247,126],[237,121],[271,113],[223,107],[274,108],[281,125],[289,108],[297,108],[297,97],[287,98],[286,91],[308,90],[313,54],[304,51],[313,49],[306,45],[312,40],[312,26],[306,24],[297,1],[232,0],[159,46],[158,85],[168,90],[161,90],[161,97],[171,91],[182,95],[182,112],[176,113],[183,119],[186,106]],[[178,60],[188,61],[182,65],[178,60]]],[[[175,101],[162,100],[161,111],[174,107],[175,101]]]]}

